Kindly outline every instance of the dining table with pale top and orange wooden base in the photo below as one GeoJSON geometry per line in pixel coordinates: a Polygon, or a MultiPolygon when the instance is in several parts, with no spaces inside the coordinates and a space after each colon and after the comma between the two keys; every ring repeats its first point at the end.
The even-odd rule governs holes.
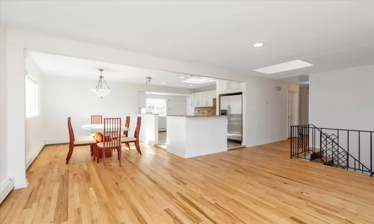
{"type": "MultiPolygon", "coordinates": [[[[110,137],[110,136],[107,136],[107,137],[110,137],[110,139],[104,139],[104,124],[83,124],[82,129],[85,130],[85,131],[94,133],[94,138],[97,142],[104,142],[104,141],[111,141],[112,140],[112,137],[110,137]]],[[[106,126],[106,129],[108,130],[108,129],[112,129],[112,128],[106,126]]],[[[129,131],[129,130],[130,130],[130,128],[121,125],[121,134],[124,133],[124,131],[129,131]]],[[[107,131],[105,131],[105,132],[107,132],[107,131]]],[[[99,153],[99,155],[97,155],[97,156],[99,158],[103,157],[103,155],[101,153],[99,153]]],[[[111,156],[113,156],[112,149],[110,149],[110,148],[106,149],[105,157],[111,157],[111,156]]]]}

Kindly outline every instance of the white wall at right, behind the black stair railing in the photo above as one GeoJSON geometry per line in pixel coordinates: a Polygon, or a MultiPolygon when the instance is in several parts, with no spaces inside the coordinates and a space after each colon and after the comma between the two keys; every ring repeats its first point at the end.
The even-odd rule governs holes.
{"type": "MultiPolygon", "coordinates": [[[[374,131],[374,65],[309,75],[309,123],[374,131]]],[[[339,144],[347,150],[347,132],[339,134],[339,144]]],[[[369,133],[361,134],[361,161],[370,168],[369,139],[369,133]]],[[[358,159],[357,132],[349,134],[349,150],[358,159]]],[[[354,165],[352,160],[350,165],[354,165]]]]}

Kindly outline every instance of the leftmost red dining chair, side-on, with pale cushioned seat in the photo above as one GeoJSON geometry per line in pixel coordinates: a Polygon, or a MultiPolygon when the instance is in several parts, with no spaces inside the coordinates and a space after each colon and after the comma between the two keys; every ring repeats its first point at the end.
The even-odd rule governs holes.
{"type": "Polygon", "coordinates": [[[69,162],[71,155],[73,154],[74,146],[86,146],[89,145],[91,149],[91,155],[95,151],[96,140],[91,136],[86,137],[74,137],[73,127],[71,126],[70,117],[67,118],[67,127],[69,129],[69,152],[67,153],[66,163],[69,162]]]}

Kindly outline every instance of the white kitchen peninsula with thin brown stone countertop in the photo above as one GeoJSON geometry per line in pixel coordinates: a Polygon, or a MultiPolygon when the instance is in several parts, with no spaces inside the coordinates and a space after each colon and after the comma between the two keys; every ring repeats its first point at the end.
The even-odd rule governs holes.
{"type": "Polygon", "coordinates": [[[167,115],[167,152],[182,158],[227,151],[227,115],[167,115]]]}

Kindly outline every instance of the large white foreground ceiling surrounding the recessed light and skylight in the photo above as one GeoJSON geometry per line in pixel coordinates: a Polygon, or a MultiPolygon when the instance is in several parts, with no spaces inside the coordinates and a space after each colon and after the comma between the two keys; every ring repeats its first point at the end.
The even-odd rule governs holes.
{"type": "Polygon", "coordinates": [[[374,1],[1,0],[0,19],[44,35],[268,78],[374,64],[374,1]],[[252,47],[256,42],[265,45],[252,47]],[[297,59],[314,66],[253,71],[297,59]]]}

